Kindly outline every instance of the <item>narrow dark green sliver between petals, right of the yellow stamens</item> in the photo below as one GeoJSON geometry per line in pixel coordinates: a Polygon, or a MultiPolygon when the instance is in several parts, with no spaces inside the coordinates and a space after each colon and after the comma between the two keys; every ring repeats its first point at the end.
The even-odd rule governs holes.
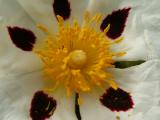
{"type": "Polygon", "coordinates": [[[136,65],[140,65],[142,63],[144,63],[145,60],[137,60],[137,61],[117,61],[114,63],[115,68],[128,68],[128,67],[132,67],[132,66],[136,66],[136,65]]]}

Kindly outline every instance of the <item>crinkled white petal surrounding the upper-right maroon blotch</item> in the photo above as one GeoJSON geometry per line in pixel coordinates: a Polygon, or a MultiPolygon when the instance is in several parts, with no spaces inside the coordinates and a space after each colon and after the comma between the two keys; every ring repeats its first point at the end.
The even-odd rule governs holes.
{"type": "MultiPolygon", "coordinates": [[[[96,12],[103,13],[106,17],[113,10],[118,10],[126,7],[131,7],[131,11],[123,33],[125,37],[122,44],[113,47],[113,49],[126,51],[127,54],[117,60],[139,60],[139,59],[155,59],[155,55],[151,52],[146,40],[145,30],[149,32],[159,31],[159,0],[92,0],[88,10],[95,14],[96,12]]],[[[150,43],[160,43],[158,37],[155,40],[149,40],[150,43]]],[[[157,46],[153,45],[157,50],[157,46]]]]}

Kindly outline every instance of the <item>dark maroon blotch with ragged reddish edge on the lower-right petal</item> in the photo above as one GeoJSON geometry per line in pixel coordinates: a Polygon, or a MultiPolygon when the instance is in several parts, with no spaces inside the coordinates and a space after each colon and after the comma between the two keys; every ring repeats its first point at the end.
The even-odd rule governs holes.
{"type": "Polygon", "coordinates": [[[120,88],[106,90],[100,97],[100,102],[112,111],[127,111],[134,105],[130,94],[120,88]]]}

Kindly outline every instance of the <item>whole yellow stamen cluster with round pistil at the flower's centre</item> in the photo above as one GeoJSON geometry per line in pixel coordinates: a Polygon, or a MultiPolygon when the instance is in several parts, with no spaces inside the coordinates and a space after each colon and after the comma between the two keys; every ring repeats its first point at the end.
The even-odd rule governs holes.
{"type": "Polygon", "coordinates": [[[106,68],[114,67],[114,56],[124,54],[110,50],[110,46],[122,38],[113,42],[106,37],[110,25],[103,32],[98,30],[100,14],[92,18],[85,14],[82,26],[76,21],[65,25],[61,16],[57,16],[57,19],[59,33],[55,36],[39,25],[47,33],[47,37],[42,47],[34,50],[44,62],[45,74],[54,82],[53,88],[64,86],[68,96],[73,92],[89,92],[104,83],[117,89],[112,74],[106,72],[106,68]]]}

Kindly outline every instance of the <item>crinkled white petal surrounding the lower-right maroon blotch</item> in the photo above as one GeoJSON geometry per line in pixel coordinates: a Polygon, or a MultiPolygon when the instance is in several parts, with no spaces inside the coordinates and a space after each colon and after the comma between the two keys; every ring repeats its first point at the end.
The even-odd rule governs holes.
{"type": "MultiPolygon", "coordinates": [[[[152,111],[153,106],[156,106],[156,110],[160,111],[160,107],[158,107],[160,102],[159,71],[160,61],[158,60],[148,61],[127,69],[112,69],[110,72],[115,75],[119,87],[131,92],[135,103],[134,109],[128,112],[111,112],[99,101],[104,91],[97,93],[94,91],[91,94],[81,96],[82,104],[80,108],[83,120],[115,120],[117,115],[120,116],[121,120],[143,120],[140,114],[144,118],[149,111],[152,111]]],[[[152,117],[156,118],[159,112],[154,115],[152,117]]]]}

